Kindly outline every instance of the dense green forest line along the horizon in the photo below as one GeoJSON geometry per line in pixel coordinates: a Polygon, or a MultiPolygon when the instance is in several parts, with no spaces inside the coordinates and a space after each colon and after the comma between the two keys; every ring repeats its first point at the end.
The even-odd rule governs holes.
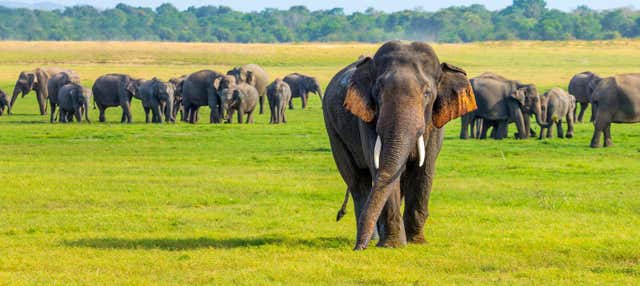
{"type": "Polygon", "coordinates": [[[156,9],[119,4],[107,10],[75,6],[53,11],[0,7],[4,40],[473,42],[620,37],[640,37],[639,10],[596,11],[581,6],[563,12],[548,9],[544,0],[514,0],[499,11],[476,4],[436,12],[385,13],[369,8],[352,14],[340,8],[310,11],[304,6],[250,13],[224,6],[179,11],[171,4],[156,9]]]}

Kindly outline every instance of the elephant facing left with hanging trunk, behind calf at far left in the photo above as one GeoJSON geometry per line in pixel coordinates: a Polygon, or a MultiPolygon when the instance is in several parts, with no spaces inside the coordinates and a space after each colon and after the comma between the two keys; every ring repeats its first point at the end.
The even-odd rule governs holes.
{"type": "Polygon", "coordinates": [[[18,98],[18,94],[22,93],[22,97],[24,98],[32,90],[36,92],[36,99],[38,100],[38,105],[40,106],[40,115],[46,115],[47,98],[49,97],[49,91],[47,90],[49,79],[61,72],[66,72],[69,75],[76,76],[76,73],[72,70],[55,67],[36,68],[33,71],[21,72],[18,76],[18,80],[16,81],[16,85],[13,88],[13,96],[11,97],[11,102],[9,103],[9,115],[12,114],[11,110],[13,109],[13,105],[18,98]]]}

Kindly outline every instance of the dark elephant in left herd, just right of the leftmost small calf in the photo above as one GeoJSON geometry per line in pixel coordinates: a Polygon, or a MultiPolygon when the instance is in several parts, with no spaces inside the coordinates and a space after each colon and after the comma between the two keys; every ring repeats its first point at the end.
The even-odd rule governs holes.
{"type": "Polygon", "coordinates": [[[109,107],[122,107],[121,123],[131,123],[131,99],[141,99],[138,87],[144,83],[142,79],[134,79],[125,74],[106,74],[93,84],[93,100],[100,110],[100,122],[105,122],[105,110],[109,107]]]}

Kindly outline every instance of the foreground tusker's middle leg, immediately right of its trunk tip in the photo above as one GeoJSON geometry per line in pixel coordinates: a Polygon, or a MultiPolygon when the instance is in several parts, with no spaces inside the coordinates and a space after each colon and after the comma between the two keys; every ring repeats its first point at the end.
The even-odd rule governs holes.
{"type": "MultiPolygon", "coordinates": [[[[399,183],[397,183],[399,184],[399,183]]],[[[378,219],[380,230],[379,247],[402,247],[407,244],[407,235],[402,221],[402,198],[400,194],[400,186],[394,191],[387,200],[380,218],[378,219]]]]}

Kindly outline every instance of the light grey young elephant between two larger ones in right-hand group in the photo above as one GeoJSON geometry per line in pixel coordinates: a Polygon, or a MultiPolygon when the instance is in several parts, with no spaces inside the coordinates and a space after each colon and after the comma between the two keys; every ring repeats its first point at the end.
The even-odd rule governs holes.
{"type": "Polygon", "coordinates": [[[540,139],[543,131],[547,129],[547,138],[551,138],[551,126],[555,123],[558,128],[558,137],[564,138],[562,119],[567,120],[567,138],[573,138],[573,109],[576,107],[576,98],[561,88],[553,88],[541,97],[542,121],[547,125],[540,125],[540,139]]]}

